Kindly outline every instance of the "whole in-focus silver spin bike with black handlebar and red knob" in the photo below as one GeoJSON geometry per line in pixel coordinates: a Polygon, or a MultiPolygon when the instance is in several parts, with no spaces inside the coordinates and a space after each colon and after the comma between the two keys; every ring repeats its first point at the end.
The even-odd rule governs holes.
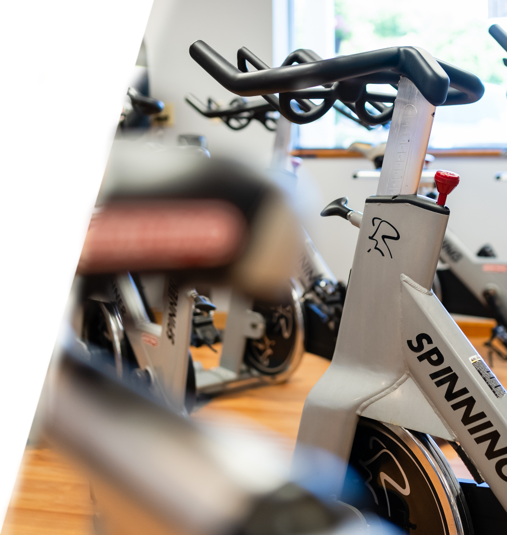
{"type": "Polygon", "coordinates": [[[238,68],[202,41],[190,54],[224,87],[262,95],[294,123],[322,117],[337,98],[354,102],[370,124],[391,118],[377,195],[363,213],[346,197],[322,212],[360,231],[335,354],[305,402],[294,472],[312,473],[328,483],[328,496],[406,533],[478,534],[492,523],[504,530],[507,392],[430,290],[450,214],[445,199],[459,177],[437,173],[436,202],[417,195],[436,106],[479,100],[481,81],[414,47],[317,62],[295,51],[273,69],[246,48],[238,68]],[[373,115],[366,102],[392,102],[367,89],[375,83],[390,83],[397,95],[373,115]],[[455,446],[476,483],[458,483],[430,435],[455,446]],[[305,455],[308,447],[323,455],[305,455]],[[347,467],[359,476],[347,478],[347,467]],[[358,486],[368,500],[355,500],[358,486]]]}

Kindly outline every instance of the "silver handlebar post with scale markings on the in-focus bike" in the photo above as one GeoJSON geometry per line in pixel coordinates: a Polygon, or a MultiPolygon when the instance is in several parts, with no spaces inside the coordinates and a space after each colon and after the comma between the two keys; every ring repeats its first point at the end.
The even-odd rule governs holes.
{"type": "Polygon", "coordinates": [[[377,195],[417,193],[435,106],[408,78],[400,78],[377,195]]]}

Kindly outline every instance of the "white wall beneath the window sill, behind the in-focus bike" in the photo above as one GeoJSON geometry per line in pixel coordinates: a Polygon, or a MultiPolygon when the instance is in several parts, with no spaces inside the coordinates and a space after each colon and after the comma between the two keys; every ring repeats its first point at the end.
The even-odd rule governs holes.
{"type": "MultiPolygon", "coordinates": [[[[436,158],[432,169],[448,169],[460,174],[460,184],[448,197],[451,209],[449,228],[474,253],[485,243],[498,256],[507,259],[507,181],[495,180],[498,171],[507,170],[504,158],[436,158]]],[[[374,195],[377,180],[353,179],[357,169],[372,169],[361,158],[305,158],[300,167],[306,194],[306,231],[338,279],[347,280],[352,266],[359,230],[339,217],[320,217],[320,211],[338,197],[349,197],[349,205],[362,211],[365,198],[374,195]]]]}

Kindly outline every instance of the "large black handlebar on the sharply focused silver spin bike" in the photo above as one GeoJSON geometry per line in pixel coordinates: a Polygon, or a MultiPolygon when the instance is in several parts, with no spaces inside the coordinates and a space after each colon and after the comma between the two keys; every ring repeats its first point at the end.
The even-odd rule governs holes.
{"type": "Polygon", "coordinates": [[[368,83],[396,86],[400,75],[410,79],[433,105],[468,104],[484,93],[475,75],[448,63],[437,61],[425,50],[415,47],[392,47],[351,56],[321,59],[311,50],[292,52],[281,67],[269,68],[246,48],[238,50],[238,67],[234,67],[203,41],[195,41],[190,55],[215,80],[240,96],[261,95],[294,123],[310,123],[326,113],[336,100],[355,103],[358,117],[368,124],[384,123],[392,114],[394,95],[369,93],[368,83]],[[257,71],[249,72],[246,62],[257,71]],[[292,65],[298,62],[298,65],[292,65]],[[324,86],[315,88],[315,86],[324,86]],[[450,87],[449,87],[450,86],[450,87]],[[279,93],[279,100],[274,93],[279,93]],[[315,105],[308,99],[323,99],[315,105]],[[296,100],[302,112],[290,102],[296,100]],[[381,111],[372,115],[365,103],[381,111]]]}

